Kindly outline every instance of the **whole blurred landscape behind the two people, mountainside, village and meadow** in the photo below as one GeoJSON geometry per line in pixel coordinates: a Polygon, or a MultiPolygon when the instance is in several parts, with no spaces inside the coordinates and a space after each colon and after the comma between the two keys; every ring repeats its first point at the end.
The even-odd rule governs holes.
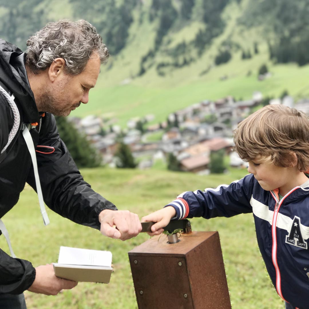
{"type": "MultiPolygon", "coordinates": [[[[29,36],[59,19],[86,19],[101,34],[111,57],[89,103],[57,117],[57,126],[95,190],[141,216],[183,191],[243,177],[233,130],[258,108],[285,104],[309,112],[308,0],[0,0],[0,16],[0,37],[23,50],[29,36]]],[[[44,228],[36,222],[36,199],[26,187],[6,215],[6,224],[19,222],[38,247],[29,252],[15,235],[17,253],[36,266],[57,261],[60,245],[111,250],[115,273],[108,286],[81,283],[55,298],[28,293],[29,308],[137,308],[127,252],[147,236],[121,243],[86,227],[75,232],[59,217],[44,228]],[[42,237],[51,232],[57,236],[42,256],[42,237]]],[[[283,307],[252,215],[194,219],[193,230],[219,231],[233,308],[283,307]]]]}

